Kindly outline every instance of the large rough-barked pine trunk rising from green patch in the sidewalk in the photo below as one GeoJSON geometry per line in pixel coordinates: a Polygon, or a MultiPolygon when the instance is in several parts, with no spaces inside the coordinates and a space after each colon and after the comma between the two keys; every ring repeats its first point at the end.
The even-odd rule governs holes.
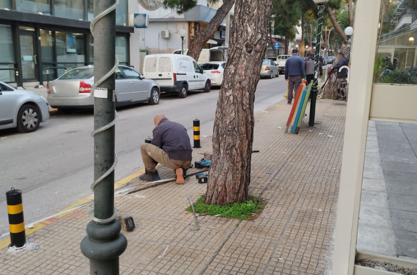
{"type": "Polygon", "coordinates": [[[255,90],[265,53],[272,0],[236,0],[232,41],[217,101],[206,203],[249,198],[255,90]]]}

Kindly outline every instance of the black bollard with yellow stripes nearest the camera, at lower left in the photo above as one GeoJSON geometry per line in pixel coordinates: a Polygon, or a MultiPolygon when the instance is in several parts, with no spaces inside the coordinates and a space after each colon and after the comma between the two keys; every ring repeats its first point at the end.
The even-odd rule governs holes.
{"type": "Polygon", "coordinates": [[[22,191],[12,188],[6,192],[6,202],[9,216],[10,247],[23,247],[26,244],[26,234],[22,191]]]}

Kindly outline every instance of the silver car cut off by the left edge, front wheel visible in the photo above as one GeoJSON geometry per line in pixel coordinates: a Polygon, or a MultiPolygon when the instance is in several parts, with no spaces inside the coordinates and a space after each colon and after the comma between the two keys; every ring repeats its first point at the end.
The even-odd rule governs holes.
{"type": "Polygon", "coordinates": [[[0,130],[17,128],[19,132],[30,133],[48,118],[49,105],[45,98],[0,82],[0,130]]]}

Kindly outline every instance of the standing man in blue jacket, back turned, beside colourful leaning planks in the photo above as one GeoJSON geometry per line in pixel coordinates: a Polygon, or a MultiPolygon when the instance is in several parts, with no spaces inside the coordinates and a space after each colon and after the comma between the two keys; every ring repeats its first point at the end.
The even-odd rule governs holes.
{"type": "Polygon", "coordinates": [[[297,96],[298,85],[302,83],[303,78],[306,78],[304,60],[297,53],[297,49],[292,50],[292,55],[285,62],[285,80],[288,81],[288,104],[292,102],[294,86],[295,96],[297,96]]]}

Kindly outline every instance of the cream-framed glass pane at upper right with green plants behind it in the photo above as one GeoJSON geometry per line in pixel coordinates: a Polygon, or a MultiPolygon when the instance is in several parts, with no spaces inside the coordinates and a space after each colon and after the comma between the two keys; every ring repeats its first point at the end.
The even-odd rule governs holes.
{"type": "Polygon", "coordinates": [[[417,84],[417,2],[387,2],[381,8],[374,82],[417,84]]]}

